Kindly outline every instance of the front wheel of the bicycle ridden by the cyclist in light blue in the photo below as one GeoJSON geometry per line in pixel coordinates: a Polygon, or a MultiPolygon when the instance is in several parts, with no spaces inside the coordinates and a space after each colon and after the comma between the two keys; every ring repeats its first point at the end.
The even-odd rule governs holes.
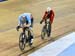
{"type": "Polygon", "coordinates": [[[21,33],[19,37],[19,48],[21,51],[24,50],[25,45],[26,45],[26,36],[24,33],[21,33]]]}

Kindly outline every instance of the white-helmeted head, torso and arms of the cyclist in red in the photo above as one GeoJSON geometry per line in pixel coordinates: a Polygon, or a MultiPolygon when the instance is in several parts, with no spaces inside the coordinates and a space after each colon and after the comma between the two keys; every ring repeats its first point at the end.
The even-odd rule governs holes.
{"type": "Polygon", "coordinates": [[[54,11],[50,7],[48,7],[44,13],[42,20],[40,21],[40,24],[42,24],[43,21],[46,21],[46,19],[49,19],[50,23],[52,24],[54,20],[54,16],[55,16],[54,11]]]}

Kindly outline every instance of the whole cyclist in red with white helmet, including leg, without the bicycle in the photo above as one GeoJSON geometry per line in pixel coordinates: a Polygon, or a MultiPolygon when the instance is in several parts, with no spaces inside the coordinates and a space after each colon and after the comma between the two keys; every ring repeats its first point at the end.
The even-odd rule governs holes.
{"type": "Polygon", "coordinates": [[[50,29],[49,29],[49,34],[48,34],[48,37],[50,37],[51,35],[51,25],[53,23],[53,20],[54,20],[54,11],[48,7],[47,10],[45,11],[44,15],[43,15],[43,18],[42,20],[40,21],[40,24],[42,24],[42,22],[45,22],[45,25],[47,24],[47,22],[50,22],[50,29]]]}

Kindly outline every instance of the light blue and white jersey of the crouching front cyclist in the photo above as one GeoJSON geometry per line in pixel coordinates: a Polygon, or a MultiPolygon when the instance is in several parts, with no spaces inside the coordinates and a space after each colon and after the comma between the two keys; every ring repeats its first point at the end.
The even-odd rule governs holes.
{"type": "Polygon", "coordinates": [[[22,25],[26,23],[25,20],[22,20],[22,16],[25,16],[25,20],[28,21],[28,24],[31,25],[31,13],[23,13],[18,18],[18,25],[22,25]]]}

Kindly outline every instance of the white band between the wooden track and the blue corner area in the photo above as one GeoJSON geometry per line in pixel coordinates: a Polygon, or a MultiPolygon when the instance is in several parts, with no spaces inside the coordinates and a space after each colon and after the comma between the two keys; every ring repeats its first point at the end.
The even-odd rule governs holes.
{"type": "Polygon", "coordinates": [[[75,32],[40,48],[39,50],[29,54],[28,56],[57,56],[73,43],[75,43],[75,32]]]}

